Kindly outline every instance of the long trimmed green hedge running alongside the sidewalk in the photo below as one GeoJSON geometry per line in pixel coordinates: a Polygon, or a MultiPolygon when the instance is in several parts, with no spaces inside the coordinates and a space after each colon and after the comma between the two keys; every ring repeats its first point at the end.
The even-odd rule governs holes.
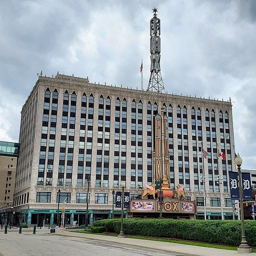
{"type": "MultiPolygon", "coordinates": [[[[244,221],[246,241],[256,246],[256,221],[244,221]]],[[[217,244],[239,245],[241,221],[204,221],[170,219],[124,219],[125,234],[170,237],[217,244]]],[[[108,232],[119,233],[121,219],[95,221],[94,227],[105,227],[108,232]]]]}

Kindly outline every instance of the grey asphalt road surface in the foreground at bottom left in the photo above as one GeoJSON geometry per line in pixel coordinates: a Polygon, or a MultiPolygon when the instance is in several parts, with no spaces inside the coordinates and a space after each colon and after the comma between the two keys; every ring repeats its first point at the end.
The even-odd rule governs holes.
{"type": "Polygon", "coordinates": [[[51,236],[46,233],[0,233],[0,256],[177,256],[181,254],[148,250],[82,238],[51,236]]]}

